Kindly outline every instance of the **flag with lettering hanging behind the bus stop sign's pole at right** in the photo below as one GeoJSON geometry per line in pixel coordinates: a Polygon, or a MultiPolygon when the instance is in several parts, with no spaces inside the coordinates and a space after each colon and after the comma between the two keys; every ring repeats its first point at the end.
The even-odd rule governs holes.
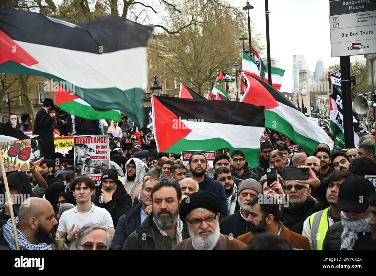
{"type": "MultiPolygon", "coordinates": [[[[338,71],[337,71],[338,72],[338,71]]],[[[338,76],[338,75],[337,75],[338,76]]],[[[340,73],[341,76],[341,73],[340,73]]],[[[343,128],[343,110],[342,110],[342,95],[338,91],[337,86],[332,82],[332,76],[328,74],[329,80],[329,104],[330,104],[330,129],[332,134],[335,136],[334,144],[339,146],[341,149],[345,147],[345,134],[343,128]]],[[[341,83],[341,78],[339,79],[341,83]]],[[[356,119],[355,114],[353,113],[353,126],[356,127],[359,125],[358,120],[356,119]]],[[[354,133],[354,145],[358,148],[359,136],[354,133]]]]}

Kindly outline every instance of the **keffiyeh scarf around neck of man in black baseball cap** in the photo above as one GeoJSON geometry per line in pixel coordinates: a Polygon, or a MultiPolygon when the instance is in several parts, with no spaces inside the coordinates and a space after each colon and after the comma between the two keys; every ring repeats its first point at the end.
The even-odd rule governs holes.
{"type": "Polygon", "coordinates": [[[353,250],[359,232],[371,232],[371,213],[366,219],[350,219],[344,212],[341,212],[341,223],[343,231],[341,235],[341,250],[353,250]]]}

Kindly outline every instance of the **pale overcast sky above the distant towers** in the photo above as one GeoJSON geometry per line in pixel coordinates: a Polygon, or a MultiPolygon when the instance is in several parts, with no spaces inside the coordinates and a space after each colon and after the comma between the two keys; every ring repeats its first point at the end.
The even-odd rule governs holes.
{"type": "MultiPolygon", "coordinates": [[[[246,0],[234,1],[240,9],[246,5],[246,0]]],[[[250,5],[255,7],[250,18],[263,35],[266,57],[265,0],[250,0],[250,5]]],[[[269,0],[269,12],[271,57],[286,70],[281,92],[293,89],[293,55],[303,54],[312,74],[319,57],[325,68],[340,62],[339,57],[331,57],[328,0],[269,0]]],[[[248,37],[248,30],[245,33],[248,37]]],[[[263,61],[266,65],[267,60],[263,61]]]]}

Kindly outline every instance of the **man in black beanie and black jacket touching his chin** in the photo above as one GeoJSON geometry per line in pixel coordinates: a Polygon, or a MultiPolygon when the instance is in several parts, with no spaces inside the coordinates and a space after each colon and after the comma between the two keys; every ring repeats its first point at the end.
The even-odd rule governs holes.
{"type": "Polygon", "coordinates": [[[124,211],[132,207],[132,198],[127,194],[123,183],[119,181],[115,169],[105,170],[100,179],[100,184],[102,189],[98,189],[95,195],[91,197],[91,202],[109,211],[114,222],[114,228],[116,228],[124,211]]]}

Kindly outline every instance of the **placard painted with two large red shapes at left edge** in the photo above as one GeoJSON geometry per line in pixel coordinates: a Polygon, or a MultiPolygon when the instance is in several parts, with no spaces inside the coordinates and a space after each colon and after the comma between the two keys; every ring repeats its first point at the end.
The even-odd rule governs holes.
{"type": "Polygon", "coordinates": [[[31,139],[0,142],[6,172],[29,169],[31,139]]]}

